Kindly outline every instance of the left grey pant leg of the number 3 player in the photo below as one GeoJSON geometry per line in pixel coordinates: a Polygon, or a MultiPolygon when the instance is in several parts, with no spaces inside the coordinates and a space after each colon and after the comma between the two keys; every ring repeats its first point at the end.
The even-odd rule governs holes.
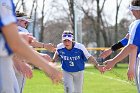
{"type": "Polygon", "coordinates": [[[64,91],[65,93],[73,93],[73,76],[71,73],[63,71],[64,91]]]}

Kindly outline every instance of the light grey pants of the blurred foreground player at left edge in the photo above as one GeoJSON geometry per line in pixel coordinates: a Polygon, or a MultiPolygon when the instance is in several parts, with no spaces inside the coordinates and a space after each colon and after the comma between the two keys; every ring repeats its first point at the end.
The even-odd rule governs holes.
{"type": "Polygon", "coordinates": [[[20,93],[12,56],[0,57],[0,93],[20,93]]]}

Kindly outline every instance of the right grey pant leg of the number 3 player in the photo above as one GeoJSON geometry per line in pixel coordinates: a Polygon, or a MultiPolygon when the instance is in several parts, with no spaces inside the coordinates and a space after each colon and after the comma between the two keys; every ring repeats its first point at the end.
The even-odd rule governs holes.
{"type": "Polygon", "coordinates": [[[74,73],[74,93],[82,93],[83,89],[84,71],[74,73]]]}

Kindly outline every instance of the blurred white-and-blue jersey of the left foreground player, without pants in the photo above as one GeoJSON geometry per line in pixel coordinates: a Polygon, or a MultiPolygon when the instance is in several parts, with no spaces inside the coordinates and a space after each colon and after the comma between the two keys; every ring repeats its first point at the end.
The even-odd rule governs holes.
{"type": "Polygon", "coordinates": [[[16,22],[15,9],[11,0],[0,0],[0,56],[9,56],[12,54],[1,28],[16,22]]]}

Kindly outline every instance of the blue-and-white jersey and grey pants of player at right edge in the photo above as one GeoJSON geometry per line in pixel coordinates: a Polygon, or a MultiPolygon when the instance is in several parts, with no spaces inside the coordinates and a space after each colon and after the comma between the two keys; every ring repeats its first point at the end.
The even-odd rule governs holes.
{"type": "Polygon", "coordinates": [[[136,20],[131,24],[128,44],[133,44],[138,47],[137,54],[139,56],[137,57],[137,61],[135,63],[135,80],[138,93],[140,93],[140,20],[136,20]]]}

